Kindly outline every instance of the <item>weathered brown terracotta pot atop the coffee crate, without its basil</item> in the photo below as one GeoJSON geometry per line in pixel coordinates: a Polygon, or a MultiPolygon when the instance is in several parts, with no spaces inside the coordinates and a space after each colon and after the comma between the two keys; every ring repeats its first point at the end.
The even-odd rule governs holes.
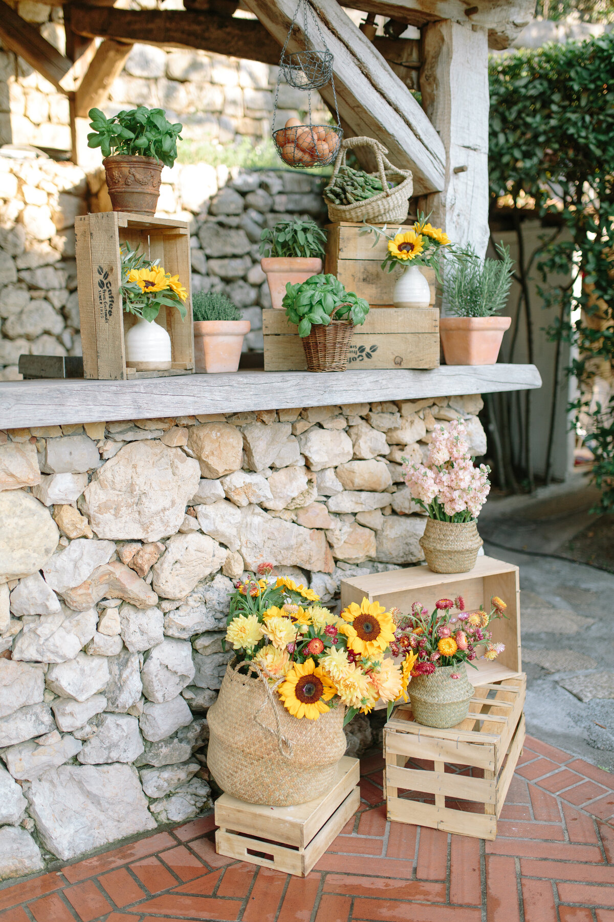
{"type": "Polygon", "coordinates": [[[113,211],[132,211],[137,215],[155,215],[160,195],[163,163],[155,157],[106,157],[110,203],[113,211]]]}

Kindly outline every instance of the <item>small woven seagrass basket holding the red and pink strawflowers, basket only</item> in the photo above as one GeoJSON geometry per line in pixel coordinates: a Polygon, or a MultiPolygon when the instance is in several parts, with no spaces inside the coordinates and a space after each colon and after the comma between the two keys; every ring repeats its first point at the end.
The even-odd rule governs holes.
{"type": "Polygon", "coordinates": [[[473,686],[464,663],[439,666],[432,676],[413,676],[408,686],[413,719],[424,727],[456,727],[469,714],[473,686]],[[458,679],[452,679],[455,675],[458,679]]]}

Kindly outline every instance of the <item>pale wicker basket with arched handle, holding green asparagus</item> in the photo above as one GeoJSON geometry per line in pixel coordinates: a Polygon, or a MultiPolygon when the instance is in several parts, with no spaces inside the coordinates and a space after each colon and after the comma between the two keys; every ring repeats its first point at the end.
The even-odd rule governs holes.
{"type": "MultiPolygon", "coordinates": [[[[387,148],[379,141],[372,137],[348,137],[342,141],[339,146],[337,160],[335,160],[334,170],[330,183],[337,176],[337,173],[345,166],[345,157],[347,151],[351,148],[373,148],[377,160],[377,175],[382,183],[383,192],[372,195],[371,198],[365,199],[364,202],[354,202],[353,205],[336,205],[330,202],[326,197],[324,190],[324,201],[329,209],[329,219],[331,221],[404,221],[410,209],[410,198],[413,193],[413,180],[411,171],[400,170],[394,167],[384,156],[388,153],[387,148]],[[388,168],[388,169],[387,169],[388,168]],[[387,175],[402,176],[402,182],[399,185],[390,188],[388,186],[387,175]]],[[[376,173],[373,173],[375,176],[376,173]]],[[[329,184],[330,184],[329,183],[329,184]]],[[[328,186],[327,186],[328,188],[328,186]]]]}

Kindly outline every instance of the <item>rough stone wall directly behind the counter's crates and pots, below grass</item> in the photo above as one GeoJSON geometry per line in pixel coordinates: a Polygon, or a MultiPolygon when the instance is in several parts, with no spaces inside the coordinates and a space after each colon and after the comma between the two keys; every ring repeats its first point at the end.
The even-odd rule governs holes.
{"type": "MultiPolygon", "coordinates": [[[[262,349],[263,227],[295,215],[323,219],[322,183],[295,171],[241,171],[206,163],[162,171],[158,214],[191,222],[192,289],[225,291],[262,349]]],[[[81,355],[75,216],[110,210],[104,171],[2,156],[0,151],[0,380],[19,355],[81,355]]]]}

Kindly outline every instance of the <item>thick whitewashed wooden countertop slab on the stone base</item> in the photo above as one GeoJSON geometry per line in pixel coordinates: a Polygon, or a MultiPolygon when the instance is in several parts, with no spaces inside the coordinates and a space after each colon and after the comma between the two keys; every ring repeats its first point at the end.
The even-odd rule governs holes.
{"type": "Polygon", "coordinates": [[[535,365],[504,364],[442,365],[427,372],[237,372],[139,381],[3,382],[0,429],[489,394],[540,386],[535,365]]]}

